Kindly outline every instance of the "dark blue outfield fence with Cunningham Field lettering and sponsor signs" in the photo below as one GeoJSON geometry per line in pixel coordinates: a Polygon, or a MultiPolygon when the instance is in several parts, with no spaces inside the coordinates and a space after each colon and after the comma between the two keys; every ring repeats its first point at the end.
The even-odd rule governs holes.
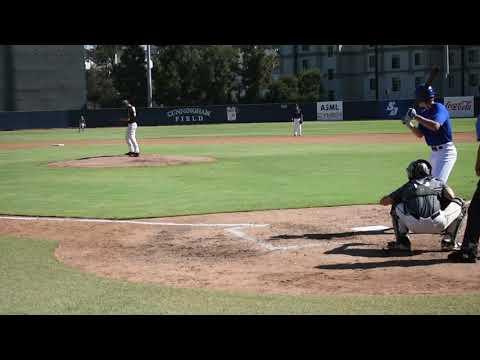
{"type": "MultiPolygon", "coordinates": [[[[480,98],[439,98],[459,117],[479,114],[480,98]],[[459,110],[460,109],[460,110],[459,110]],[[460,115],[459,115],[460,114],[460,115]],[[462,114],[465,114],[462,116],[462,114]]],[[[413,99],[385,101],[326,101],[299,104],[306,121],[400,119],[414,103],[413,99]]],[[[137,108],[141,126],[288,122],[294,103],[235,104],[216,106],[176,106],[137,108]]],[[[12,111],[0,112],[0,130],[49,129],[78,127],[84,115],[87,127],[125,126],[120,119],[125,109],[12,111]]]]}

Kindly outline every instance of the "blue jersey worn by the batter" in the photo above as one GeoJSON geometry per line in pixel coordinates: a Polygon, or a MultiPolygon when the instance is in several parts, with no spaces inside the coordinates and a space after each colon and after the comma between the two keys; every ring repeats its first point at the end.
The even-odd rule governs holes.
{"type": "Polygon", "coordinates": [[[418,115],[440,124],[438,131],[427,129],[422,124],[418,125],[418,129],[425,136],[425,141],[429,146],[442,145],[452,141],[452,122],[445,105],[434,103],[430,109],[425,109],[418,115]]]}

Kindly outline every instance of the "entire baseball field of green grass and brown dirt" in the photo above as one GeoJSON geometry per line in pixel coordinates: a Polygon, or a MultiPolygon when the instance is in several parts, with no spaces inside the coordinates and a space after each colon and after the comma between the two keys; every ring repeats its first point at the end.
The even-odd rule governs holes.
{"type": "MultiPolygon", "coordinates": [[[[475,120],[453,127],[470,199],[475,120]]],[[[140,124],[139,158],[124,134],[0,132],[1,314],[480,313],[439,235],[382,251],[378,200],[430,154],[399,121],[140,124]]]]}

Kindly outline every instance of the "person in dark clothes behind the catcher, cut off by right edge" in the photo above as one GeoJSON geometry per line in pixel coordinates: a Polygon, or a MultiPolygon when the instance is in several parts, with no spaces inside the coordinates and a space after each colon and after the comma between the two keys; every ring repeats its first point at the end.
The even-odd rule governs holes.
{"type": "MultiPolygon", "coordinates": [[[[480,115],[477,119],[477,140],[479,146],[477,150],[477,162],[475,172],[480,176],[480,115]]],[[[463,243],[460,251],[448,255],[448,259],[453,262],[475,263],[478,256],[478,239],[480,238],[480,181],[477,183],[477,190],[473,194],[472,201],[468,207],[467,227],[463,236],[463,243]]]]}

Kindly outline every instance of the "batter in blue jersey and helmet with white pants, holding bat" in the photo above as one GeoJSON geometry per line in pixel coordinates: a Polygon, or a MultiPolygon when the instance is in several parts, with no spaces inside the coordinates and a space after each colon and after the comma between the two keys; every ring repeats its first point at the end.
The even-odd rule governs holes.
{"type": "Polygon", "coordinates": [[[425,137],[427,145],[432,149],[432,176],[447,183],[457,160],[450,114],[443,104],[435,102],[435,92],[430,85],[420,85],[415,95],[422,110],[417,114],[414,108],[409,108],[403,123],[417,137],[425,137]],[[414,126],[413,120],[418,122],[418,127],[414,126]]]}

